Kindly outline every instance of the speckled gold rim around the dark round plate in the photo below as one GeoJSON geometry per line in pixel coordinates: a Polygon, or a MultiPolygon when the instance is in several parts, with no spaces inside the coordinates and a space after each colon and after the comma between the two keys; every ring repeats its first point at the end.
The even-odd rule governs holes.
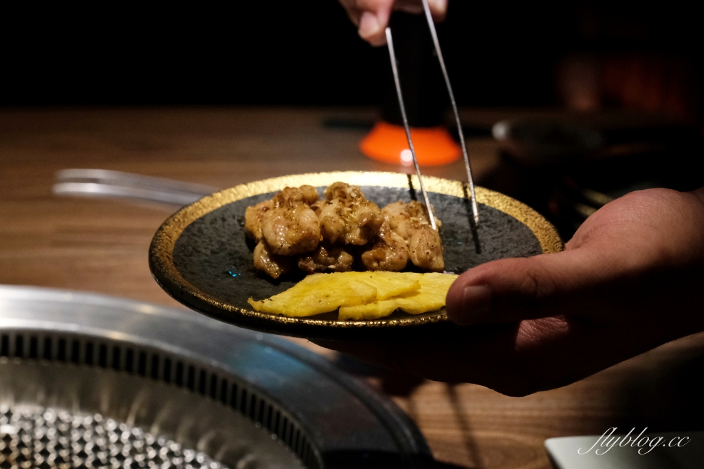
{"type": "MultiPolygon", "coordinates": [[[[149,249],[149,266],[156,282],[174,299],[195,311],[222,320],[225,323],[262,332],[308,339],[363,340],[391,337],[394,334],[425,334],[432,331],[442,332],[452,329],[454,326],[449,323],[444,309],[422,315],[394,313],[389,318],[370,321],[327,319],[330,315],[325,315],[325,318],[321,319],[315,316],[310,318],[289,318],[282,315],[260,313],[251,311],[251,309],[242,305],[232,304],[231,301],[227,301],[217,295],[204,292],[203,289],[189,282],[186,278],[187,275],[184,275],[177,268],[177,263],[175,263],[174,259],[174,249],[177,242],[179,242],[184,230],[187,230],[189,225],[209,213],[228,204],[244,201],[244,199],[280,191],[284,187],[298,187],[308,184],[325,188],[336,181],[364,187],[388,188],[389,191],[406,189],[406,191],[413,192],[414,188],[420,187],[415,176],[411,177],[400,173],[352,171],[289,175],[230,187],[230,189],[206,196],[194,204],[182,208],[161,225],[156,235],[154,235],[149,249]]],[[[446,196],[453,198],[453,200],[462,199],[465,202],[467,201],[467,190],[462,182],[429,176],[424,177],[423,182],[430,195],[436,198],[446,196]]],[[[383,192],[386,189],[379,190],[383,192]]],[[[483,187],[477,187],[476,194],[480,209],[486,212],[493,208],[495,211],[490,211],[491,213],[509,215],[510,218],[527,227],[534,235],[536,242],[539,244],[539,251],[543,254],[554,253],[564,249],[564,244],[555,227],[532,208],[515,199],[483,187]]],[[[433,202],[433,204],[435,205],[436,202],[433,202]]],[[[469,205],[465,204],[465,206],[468,209],[469,205]]],[[[244,217],[244,208],[242,211],[241,216],[244,217]]],[[[480,216],[482,216],[481,211],[480,216]]],[[[442,217],[439,218],[442,220],[442,217]]],[[[480,219],[480,228],[482,225],[483,223],[480,219]]],[[[208,227],[201,229],[207,230],[208,227]]],[[[441,231],[442,234],[443,232],[441,231]]],[[[482,231],[479,230],[479,242],[482,242],[481,234],[482,231]]],[[[494,237],[496,238],[496,236],[494,237]]],[[[467,249],[470,248],[467,247],[467,249]]],[[[249,254],[251,256],[251,253],[249,254]]],[[[539,254],[539,252],[536,254],[539,254]]],[[[206,275],[221,274],[222,270],[213,270],[212,273],[206,275]]],[[[265,278],[256,280],[256,282],[258,281],[268,282],[265,278]]],[[[262,285],[265,286],[265,284],[262,285]]],[[[234,284],[233,288],[237,288],[237,284],[234,284]]]]}

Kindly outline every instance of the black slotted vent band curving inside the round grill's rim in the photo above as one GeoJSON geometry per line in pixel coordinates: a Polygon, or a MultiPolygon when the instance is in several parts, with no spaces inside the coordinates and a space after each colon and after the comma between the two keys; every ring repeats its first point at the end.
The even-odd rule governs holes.
{"type": "Polygon", "coordinates": [[[256,427],[264,427],[272,434],[272,439],[279,439],[294,451],[307,468],[321,467],[320,457],[296,419],[257,389],[217,368],[191,363],[160,349],[103,337],[47,335],[45,332],[21,330],[0,335],[0,357],[97,366],[188,389],[206,399],[230,406],[249,418],[256,427]]]}

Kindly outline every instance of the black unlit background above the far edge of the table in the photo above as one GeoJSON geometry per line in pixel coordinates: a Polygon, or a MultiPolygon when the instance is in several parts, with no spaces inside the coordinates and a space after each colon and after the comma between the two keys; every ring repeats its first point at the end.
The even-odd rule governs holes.
{"type": "MultiPolygon", "coordinates": [[[[574,54],[674,58],[698,103],[692,8],[451,0],[439,35],[460,105],[560,104],[574,54]]],[[[359,39],[335,0],[5,6],[0,18],[5,107],[375,105],[390,75],[386,49],[359,39]]]]}

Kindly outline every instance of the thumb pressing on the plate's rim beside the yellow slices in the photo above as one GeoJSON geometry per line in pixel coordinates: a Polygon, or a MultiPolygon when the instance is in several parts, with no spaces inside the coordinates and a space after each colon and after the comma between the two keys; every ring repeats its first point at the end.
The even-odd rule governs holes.
{"type": "Polygon", "coordinates": [[[459,325],[511,323],[580,308],[580,297],[605,280],[587,249],[489,262],[467,270],[450,287],[448,318],[459,325]]]}

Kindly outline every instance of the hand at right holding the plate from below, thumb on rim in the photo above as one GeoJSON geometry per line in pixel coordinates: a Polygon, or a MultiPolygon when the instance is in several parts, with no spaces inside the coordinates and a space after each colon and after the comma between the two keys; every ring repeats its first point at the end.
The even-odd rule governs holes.
{"type": "Polygon", "coordinates": [[[704,330],[704,188],[633,192],[604,206],[566,249],[460,275],[442,339],[325,342],[431,380],[520,396],[560,387],[704,330]]]}

